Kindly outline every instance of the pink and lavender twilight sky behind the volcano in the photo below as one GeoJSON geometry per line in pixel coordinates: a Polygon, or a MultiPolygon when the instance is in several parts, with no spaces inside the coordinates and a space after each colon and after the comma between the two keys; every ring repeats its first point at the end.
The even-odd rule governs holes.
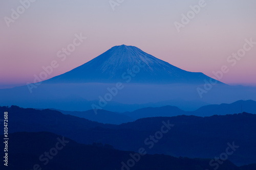
{"type": "Polygon", "coordinates": [[[243,52],[246,39],[256,42],[255,6],[254,0],[0,1],[0,88],[33,82],[53,61],[58,67],[48,78],[63,74],[121,44],[210,77],[226,66],[220,81],[256,85],[256,44],[229,58],[243,52]],[[183,14],[191,14],[188,23],[183,14]],[[79,35],[86,39],[62,61],[57,53],[79,35]]]}

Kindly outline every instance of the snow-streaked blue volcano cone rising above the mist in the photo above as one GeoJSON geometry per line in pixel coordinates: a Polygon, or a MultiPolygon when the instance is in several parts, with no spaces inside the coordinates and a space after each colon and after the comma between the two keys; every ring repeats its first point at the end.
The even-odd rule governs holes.
{"type": "MultiPolygon", "coordinates": [[[[190,83],[210,78],[189,72],[149,55],[135,46],[114,46],[93,60],[45,83],[190,83]],[[130,71],[130,72],[129,72],[130,71]]],[[[217,81],[218,83],[221,83],[217,81]]],[[[221,83],[222,84],[222,83],[221,83]]]]}

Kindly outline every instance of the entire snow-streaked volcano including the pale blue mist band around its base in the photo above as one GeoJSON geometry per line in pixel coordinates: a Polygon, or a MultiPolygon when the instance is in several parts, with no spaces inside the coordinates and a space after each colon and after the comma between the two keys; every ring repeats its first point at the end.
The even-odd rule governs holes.
{"type": "Polygon", "coordinates": [[[256,100],[255,87],[229,86],[219,81],[210,84],[212,81],[200,72],[182,70],[135,46],[120,45],[39,84],[0,89],[0,102],[5,106],[66,111],[85,111],[97,105],[125,112],[166,105],[191,111],[207,103],[256,100]]]}

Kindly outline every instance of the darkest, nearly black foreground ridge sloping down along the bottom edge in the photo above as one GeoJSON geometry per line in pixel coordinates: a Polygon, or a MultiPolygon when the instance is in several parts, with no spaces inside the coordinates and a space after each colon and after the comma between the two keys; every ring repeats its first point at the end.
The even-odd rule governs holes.
{"type": "MultiPolygon", "coordinates": [[[[10,140],[8,143],[9,162],[8,167],[4,166],[3,162],[0,164],[0,168],[3,170],[204,170],[211,168],[209,165],[211,159],[189,159],[183,157],[175,158],[166,155],[140,155],[131,151],[119,151],[113,149],[110,145],[103,145],[102,143],[95,143],[93,145],[80,144],[70,138],[49,132],[19,132],[10,135],[12,140],[10,140]],[[61,143],[59,142],[60,140],[64,142],[61,143]],[[46,155],[47,152],[48,155],[46,155]],[[132,165],[131,168],[128,165],[132,165]]],[[[3,138],[3,136],[1,136],[1,138],[3,138]]],[[[0,145],[2,147],[3,144],[1,143],[0,145]]],[[[4,154],[3,151],[4,150],[0,151],[1,155],[4,154]]],[[[255,167],[255,165],[245,165],[243,167],[238,167],[231,163],[229,160],[224,161],[218,166],[219,170],[254,170],[255,167]]],[[[213,167],[217,167],[217,165],[213,167]]]]}

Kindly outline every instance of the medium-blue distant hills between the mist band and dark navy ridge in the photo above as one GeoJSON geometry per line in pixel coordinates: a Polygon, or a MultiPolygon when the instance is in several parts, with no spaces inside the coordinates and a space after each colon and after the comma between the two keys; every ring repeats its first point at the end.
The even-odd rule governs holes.
{"type": "Polygon", "coordinates": [[[93,110],[78,112],[78,111],[62,111],[63,114],[70,114],[77,117],[87,118],[92,121],[107,123],[107,124],[121,124],[133,122],[139,118],[145,117],[171,117],[178,115],[195,115],[195,116],[212,116],[212,115],[226,115],[233,113],[248,112],[256,114],[256,102],[252,100],[237,101],[231,104],[221,105],[207,105],[195,111],[184,111],[175,106],[163,107],[147,107],[141,108],[132,112],[110,112],[106,110],[97,110],[95,114],[93,110]]]}

